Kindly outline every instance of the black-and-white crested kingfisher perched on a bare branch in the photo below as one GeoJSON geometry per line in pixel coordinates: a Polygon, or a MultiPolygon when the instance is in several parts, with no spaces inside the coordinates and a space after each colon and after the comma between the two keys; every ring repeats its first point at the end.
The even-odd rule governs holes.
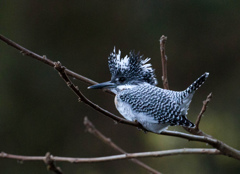
{"type": "Polygon", "coordinates": [[[144,129],[161,133],[169,126],[191,128],[187,111],[195,91],[205,82],[208,72],[201,75],[183,91],[157,87],[155,70],[140,53],[130,51],[121,58],[114,47],[108,57],[111,80],[89,86],[88,89],[108,89],[115,94],[114,103],[127,120],[140,123],[144,129]]]}

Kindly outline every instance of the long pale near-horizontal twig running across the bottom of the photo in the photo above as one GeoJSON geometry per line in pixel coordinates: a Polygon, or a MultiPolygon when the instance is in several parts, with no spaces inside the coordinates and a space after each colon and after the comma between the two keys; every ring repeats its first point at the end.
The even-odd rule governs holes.
{"type": "MultiPolygon", "coordinates": [[[[70,163],[95,163],[95,162],[107,162],[115,160],[126,160],[133,158],[148,158],[148,157],[164,157],[173,155],[186,155],[186,154],[208,154],[208,155],[220,155],[222,154],[217,149],[211,148],[183,148],[183,149],[173,149],[173,150],[163,150],[163,151],[153,151],[153,152],[139,152],[139,153],[127,153],[121,155],[111,155],[96,158],[72,158],[72,157],[58,157],[52,156],[53,161],[62,161],[70,163]]],[[[16,159],[21,161],[44,161],[45,156],[23,156],[23,155],[12,155],[5,152],[0,153],[0,158],[16,159]]]]}

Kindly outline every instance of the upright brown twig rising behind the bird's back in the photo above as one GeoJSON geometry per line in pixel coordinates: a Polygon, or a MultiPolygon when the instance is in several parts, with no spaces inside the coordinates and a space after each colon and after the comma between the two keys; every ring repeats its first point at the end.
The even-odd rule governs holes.
{"type": "Polygon", "coordinates": [[[166,42],[167,42],[167,37],[162,35],[160,38],[160,53],[161,53],[161,60],[162,60],[162,81],[163,81],[163,88],[169,89],[169,84],[167,79],[167,56],[165,53],[166,42]]]}

